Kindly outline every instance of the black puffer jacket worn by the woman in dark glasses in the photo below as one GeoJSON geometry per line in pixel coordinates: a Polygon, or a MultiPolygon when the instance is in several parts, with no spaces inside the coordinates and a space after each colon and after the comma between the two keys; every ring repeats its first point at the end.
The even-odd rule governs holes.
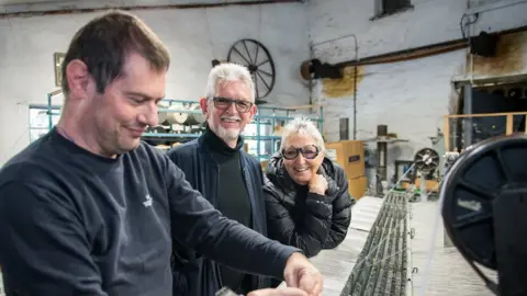
{"type": "Polygon", "coordinates": [[[343,168],[324,158],[319,173],[328,183],[325,196],[298,185],[277,155],[269,162],[264,189],[268,236],[302,249],[307,257],[333,249],[344,240],[355,204],[343,168]]]}

